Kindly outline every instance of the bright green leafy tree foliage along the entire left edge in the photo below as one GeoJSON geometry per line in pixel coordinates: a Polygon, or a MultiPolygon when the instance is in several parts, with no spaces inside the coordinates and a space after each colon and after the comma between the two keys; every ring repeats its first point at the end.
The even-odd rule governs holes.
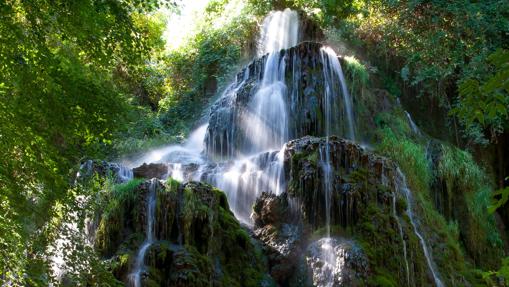
{"type": "Polygon", "coordinates": [[[45,285],[50,278],[45,253],[58,232],[55,208],[77,196],[68,189],[76,162],[104,154],[121,127],[128,97],[112,72],[144,65],[154,43],[137,19],[158,5],[156,0],[0,4],[3,281],[45,285]]]}

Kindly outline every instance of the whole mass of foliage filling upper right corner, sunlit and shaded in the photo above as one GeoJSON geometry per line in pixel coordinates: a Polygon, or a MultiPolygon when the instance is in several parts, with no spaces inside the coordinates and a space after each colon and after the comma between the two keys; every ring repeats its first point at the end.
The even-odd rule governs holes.
{"type": "Polygon", "coordinates": [[[392,81],[437,97],[475,143],[507,130],[507,1],[350,2],[340,25],[323,27],[366,51],[392,81]]]}

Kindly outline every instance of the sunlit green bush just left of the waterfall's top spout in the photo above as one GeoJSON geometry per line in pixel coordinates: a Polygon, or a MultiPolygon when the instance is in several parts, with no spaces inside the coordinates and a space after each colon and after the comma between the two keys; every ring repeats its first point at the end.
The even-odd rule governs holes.
{"type": "Polygon", "coordinates": [[[251,8],[241,3],[211,1],[202,18],[195,21],[197,33],[166,55],[166,93],[159,101],[166,125],[188,126],[196,121],[217,88],[236,72],[242,55],[251,56],[256,18],[251,8]],[[226,9],[229,4],[242,9],[228,14],[232,13],[226,9]]]}

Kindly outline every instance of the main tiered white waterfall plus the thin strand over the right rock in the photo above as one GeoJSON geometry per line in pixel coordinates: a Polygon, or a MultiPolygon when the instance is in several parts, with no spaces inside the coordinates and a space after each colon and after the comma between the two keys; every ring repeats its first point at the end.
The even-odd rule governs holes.
{"type": "MultiPolygon", "coordinates": [[[[211,183],[225,191],[237,218],[250,223],[252,205],[262,192],[280,194],[285,189],[285,143],[308,134],[305,127],[295,125],[309,113],[298,110],[299,101],[306,102],[302,104],[308,105],[306,109],[315,107],[314,102],[307,102],[306,91],[299,92],[304,65],[319,69],[324,79],[317,83],[317,94],[309,100],[316,101],[320,110],[313,111],[319,116],[315,115],[315,123],[310,125],[320,136],[335,134],[354,140],[352,99],[334,51],[318,46],[313,50],[319,53],[313,60],[316,63],[309,63],[301,62],[297,50],[284,50],[298,44],[299,25],[295,11],[271,12],[260,29],[260,64],[243,69],[225,89],[211,109],[209,124],[193,132],[184,145],[155,149],[132,159],[130,166],[163,162],[168,164],[168,176],[177,180],[211,183]]],[[[328,139],[320,156],[330,234],[333,174],[328,139]]]]}

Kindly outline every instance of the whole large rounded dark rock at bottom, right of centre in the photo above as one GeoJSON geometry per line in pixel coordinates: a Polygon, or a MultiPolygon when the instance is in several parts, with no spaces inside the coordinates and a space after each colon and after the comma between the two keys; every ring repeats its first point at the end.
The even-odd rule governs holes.
{"type": "Polygon", "coordinates": [[[303,137],[287,144],[284,170],[285,191],[264,193],[253,211],[254,234],[264,243],[270,273],[279,284],[433,284],[419,240],[403,216],[405,203],[396,192],[396,166],[390,160],[348,140],[303,137]],[[325,234],[321,156],[326,150],[333,175],[332,237],[325,234]]]}

